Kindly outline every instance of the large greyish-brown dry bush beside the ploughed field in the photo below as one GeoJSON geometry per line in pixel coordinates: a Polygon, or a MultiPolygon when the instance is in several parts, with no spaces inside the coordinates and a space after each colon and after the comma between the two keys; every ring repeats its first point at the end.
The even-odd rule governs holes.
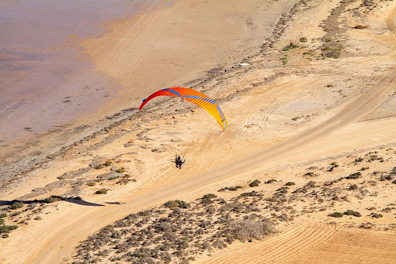
{"type": "Polygon", "coordinates": [[[235,224],[235,229],[232,232],[240,240],[252,238],[260,240],[266,235],[275,233],[276,230],[269,220],[241,220],[235,224]]]}

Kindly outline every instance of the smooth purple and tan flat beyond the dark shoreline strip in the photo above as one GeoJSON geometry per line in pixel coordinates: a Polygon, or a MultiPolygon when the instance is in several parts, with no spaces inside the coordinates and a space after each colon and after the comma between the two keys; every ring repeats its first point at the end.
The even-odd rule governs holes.
{"type": "Polygon", "coordinates": [[[283,3],[2,3],[1,179],[134,113],[156,89],[239,63],[293,4],[283,3]]]}

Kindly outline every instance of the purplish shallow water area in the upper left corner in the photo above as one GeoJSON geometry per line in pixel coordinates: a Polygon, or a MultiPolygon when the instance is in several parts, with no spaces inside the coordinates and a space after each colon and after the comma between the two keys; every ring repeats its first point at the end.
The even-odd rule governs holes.
{"type": "Polygon", "coordinates": [[[94,73],[74,39],[155,0],[20,0],[0,3],[0,141],[42,133],[95,111],[118,87],[94,73]]]}

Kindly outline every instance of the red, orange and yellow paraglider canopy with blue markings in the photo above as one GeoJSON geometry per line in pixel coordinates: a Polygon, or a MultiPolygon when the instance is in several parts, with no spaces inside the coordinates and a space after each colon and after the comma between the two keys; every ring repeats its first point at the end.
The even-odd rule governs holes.
{"type": "Polygon", "coordinates": [[[223,131],[227,129],[228,125],[226,117],[224,116],[223,111],[221,111],[217,103],[205,94],[191,88],[170,87],[156,91],[148,96],[147,99],[143,99],[139,110],[142,110],[142,108],[145,106],[146,103],[148,103],[149,100],[157,96],[175,96],[193,102],[205,109],[209,114],[211,114],[219,123],[223,131]]]}

